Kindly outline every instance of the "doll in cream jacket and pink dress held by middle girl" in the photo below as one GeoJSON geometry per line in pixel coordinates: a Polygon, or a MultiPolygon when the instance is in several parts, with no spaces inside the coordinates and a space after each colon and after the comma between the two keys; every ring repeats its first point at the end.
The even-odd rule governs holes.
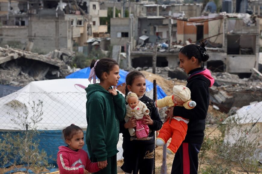
{"type": "Polygon", "coordinates": [[[126,105],[126,122],[133,116],[136,118],[136,130],[129,128],[130,135],[136,135],[137,138],[147,137],[149,127],[142,122],[142,118],[144,115],[149,114],[149,109],[146,107],[145,103],[138,100],[136,93],[129,92],[126,96],[126,102],[128,103],[128,105],[126,105]]]}

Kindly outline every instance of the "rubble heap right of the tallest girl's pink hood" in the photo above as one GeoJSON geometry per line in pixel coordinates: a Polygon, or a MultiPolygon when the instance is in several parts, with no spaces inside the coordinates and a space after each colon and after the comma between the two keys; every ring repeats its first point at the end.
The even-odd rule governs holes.
{"type": "Polygon", "coordinates": [[[238,75],[227,72],[212,73],[217,86],[210,88],[210,102],[216,105],[220,111],[230,112],[231,108],[249,105],[254,101],[262,100],[262,81],[258,71],[250,78],[239,78],[238,75]]]}

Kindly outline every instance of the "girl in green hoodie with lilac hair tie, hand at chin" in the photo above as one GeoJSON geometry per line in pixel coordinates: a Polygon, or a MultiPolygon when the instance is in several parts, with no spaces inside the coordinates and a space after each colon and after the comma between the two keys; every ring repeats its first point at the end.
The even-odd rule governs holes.
{"type": "Polygon", "coordinates": [[[115,89],[119,66],[115,60],[92,60],[86,90],[86,144],[92,162],[102,168],[99,174],[117,174],[117,142],[119,121],[126,115],[124,97],[115,89]],[[96,82],[96,77],[100,83],[96,82]],[[112,88],[111,86],[114,86],[112,88]]]}

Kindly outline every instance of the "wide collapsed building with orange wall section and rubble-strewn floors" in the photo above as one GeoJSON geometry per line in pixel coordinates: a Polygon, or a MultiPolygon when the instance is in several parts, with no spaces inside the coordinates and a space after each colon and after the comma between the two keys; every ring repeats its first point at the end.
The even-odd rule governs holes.
{"type": "MultiPolygon", "coordinates": [[[[209,13],[201,16],[202,4],[141,4],[128,18],[111,19],[111,44],[126,52],[127,66],[152,66],[157,45],[156,66],[179,64],[179,49],[205,40],[211,58],[203,64],[214,72],[240,77],[259,69],[260,18],[247,13],[209,13]],[[143,61],[141,61],[143,60],[143,61]]],[[[125,68],[125,67],[123,67],[125,68]]]]}

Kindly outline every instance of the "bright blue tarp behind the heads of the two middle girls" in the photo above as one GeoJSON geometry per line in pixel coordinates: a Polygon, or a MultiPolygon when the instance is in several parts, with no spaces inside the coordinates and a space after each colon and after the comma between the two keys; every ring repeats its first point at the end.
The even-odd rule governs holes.
{"type": "MultiPolygon", "coordinates": [[[[89,77],[89,73],[90,73],[90,68],[84,68],[84,69],[80,69],[79,71],[73,72],[70,75],[67,75],[66,78],[88,78],[89,77]]],[[[119,71],[119,75],[120,75],[120,79],[117,85],[120,85],[122,83],[126,82],[126,75],[128,74],[127,71],[120,69],[119,71]]],[[[92,82],[92,81],[91,81],[92,82]]],[[[151,91],[153,90],[153,83],[145,80],[146,82],[146,91],[151,91]]],[[[166,95],[166,93],[162,90],[162,88],[157,85],[157,96],[158,99],[162,99],[164,98],[166,95]]]]}

